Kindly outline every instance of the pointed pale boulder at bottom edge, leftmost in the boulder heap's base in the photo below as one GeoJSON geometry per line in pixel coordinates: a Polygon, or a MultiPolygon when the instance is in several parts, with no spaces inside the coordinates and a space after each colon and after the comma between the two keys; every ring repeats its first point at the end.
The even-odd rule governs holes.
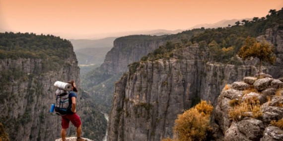
{"type": "Polygon", "coordinates": [[[237,126],[237,123],[232,123],[230,128],[224,134],[224,141],[252,141],[242,134],[237,126]]]}

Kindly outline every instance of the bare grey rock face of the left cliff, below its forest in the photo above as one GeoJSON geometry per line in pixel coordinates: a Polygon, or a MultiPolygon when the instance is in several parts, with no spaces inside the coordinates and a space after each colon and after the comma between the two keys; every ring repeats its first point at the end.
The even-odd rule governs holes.
{"type": "Polygon", "coordinates": [[[79,86],[79,68],[74,53],[66,64],[60,64],[63,67],[51,71],[43,69],[43,61],[0,60],[1,73],[12,70],[12,74],[6,74],[9,80],[1,83],[0,107],[1,121],[12,141],[51,141],[60,136],[61,117],[49,113],[55,99],[53,84],[74,79],[79,86]]]}

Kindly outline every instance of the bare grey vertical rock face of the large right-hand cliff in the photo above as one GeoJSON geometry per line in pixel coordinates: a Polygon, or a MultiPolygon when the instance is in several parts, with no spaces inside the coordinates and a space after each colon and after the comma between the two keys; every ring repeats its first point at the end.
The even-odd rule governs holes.
{"type": "MultiPolygon", "coordinates": [[[[277,30],[272,37],[282,37],[282,30],[272,30],[277,30]]],[[[281,42],[272,41],[277,50],[283,47],[281,42]]],[[[170,59],[141,61],[134,71],[124,74],[116,83],[107,140],[160,141],[172,138],[172,127],[178,114],[199,99],[210,100],[216,106],[225,84],[257,72],[257,60],[241,61],[242,65],[209,62],[207,49],[198,44],[176,49],[170,59]]],[[[264,71],[279,78],[283,74],[282,56],[280,51],[276,53],[275,65],[266,65],[264,71]]]]}

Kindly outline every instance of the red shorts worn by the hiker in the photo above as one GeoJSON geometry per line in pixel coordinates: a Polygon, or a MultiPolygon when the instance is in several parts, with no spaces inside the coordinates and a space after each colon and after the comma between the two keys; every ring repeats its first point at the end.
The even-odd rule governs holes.
{"type": "Polygon", "coordinates": [[[81,125],[79,116],[76,113],[74,113],[71,115],[62,116],[62,128],[63,129],[69,128],[70,121],[75,127],[79,127],[81,125]]]}

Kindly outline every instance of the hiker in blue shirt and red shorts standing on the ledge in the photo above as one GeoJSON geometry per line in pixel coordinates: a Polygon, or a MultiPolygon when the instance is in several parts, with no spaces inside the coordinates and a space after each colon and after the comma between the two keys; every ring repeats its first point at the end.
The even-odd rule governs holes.
{"type": "Polygon", "coordinates": [[[86,141],[86,139],[83,139],[80,137],[81,135],[81,121],[79,116],[76,114],[75,110],[75,99],[76,99],[76,93],[77,89],[75,87],[74,80],[68,81],[69,84],[71,84],[71,91],[69,91],[69,104],[71,105],[71,109],[67,111],[67,114],[62,117],[62,130],[61,130],[61,137],[63,141],[66,141],[66,130],[69,128],[69,123],[71,123],[76,127],[76,141],[86,141]]]}

